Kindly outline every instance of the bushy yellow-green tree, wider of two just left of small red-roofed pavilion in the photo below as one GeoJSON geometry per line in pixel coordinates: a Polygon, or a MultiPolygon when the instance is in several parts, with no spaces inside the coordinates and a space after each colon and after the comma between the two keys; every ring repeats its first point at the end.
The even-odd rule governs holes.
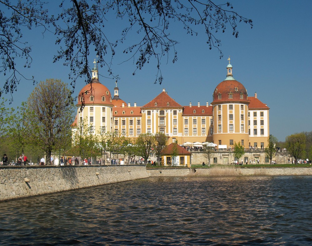
{"type": "Polygon", "coordinates": [[[144,163],[147,164],[152,148],[155,144],[155,136],[150,133],[142,133],[135,141],[137,146],[137,155],[144,158],[144,163]]]}

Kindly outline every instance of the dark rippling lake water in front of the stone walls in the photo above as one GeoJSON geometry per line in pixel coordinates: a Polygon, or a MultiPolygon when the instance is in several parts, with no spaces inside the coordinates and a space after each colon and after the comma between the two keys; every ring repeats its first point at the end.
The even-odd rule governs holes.
{"type": "Polygon", "coordinates": [[[1,245],[308,245],[312,177],[159,177],[1,203],[1,245]]]}

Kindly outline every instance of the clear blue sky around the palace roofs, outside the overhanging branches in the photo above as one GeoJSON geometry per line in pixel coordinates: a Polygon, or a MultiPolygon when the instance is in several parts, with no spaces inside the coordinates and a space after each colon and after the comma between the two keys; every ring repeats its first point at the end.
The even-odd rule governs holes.
{"type": "MultiPolygon", "coordinates": [[[[218,1],[221,2],[221,1],[218,1]]],[[[302,131],[312,131],[312,113],[310,82],[310,63],[312,58],[310,11],[312,1],[233,1],[234,11],[253,20],[253,28],[239,24],[239,37],[232,36],[230,28],[225,33],[217,33],[221,39],[224,54],[219,59],[217,49],[209,50],[206,36],[202,31],[197,37],[187,35],[182,26],[173,23],[170,32],[173,39],[179,41],[175,49],[178,61],[172,64],[172,53],[168,63],[162,59],[161,69],[164,77],[161,85],[154,84],[157,70],[152,61],[142,70],[135,69],[133,60],[126,60],[122,47],[117,47],[117,55],[112,69],[119,75],[119,96],[125,102],[134,102],[143,106],[165,88],[168,95],[183,106],[189,102],[201,105],[212,102],[212,92],[226,78],[227,58],[231,57],[233,77],[247,89],[249,96],[257,97],[270,107],[270,134],[280,141],[287,135],[302,131]]],[[[114,31],[114,21],[110,21],[114,31]]],[[[118,23],[120,24],[120,23],[118,23]]],[[[129,37],[135,38],[134,36],[129,37]]],[[[52,63],[57,47],[55,37],[40,30],[27,31],[24,34],[32,44],[33,62],[30,69],[23,69],[27,77],[35,76],[37,81],[47,78],[61,79],[68,83],[69,68],[62,61],[52,63]]],[[[95,54],[90,54],[90,66],[95,54]]],[[[106,68],[99,73],[105,75],[106,68]]],[[[0,75],[3,81],[3,74],[0,75]]],[[[115,80],[108,76],[100,77],[100,82],[111,92],[115,80]]],[[[2,82],[3,83],[3,82],[2,82]]],[[[76,83],[76,94],[85,85],[84,79],[76,83]]],[[[26,101],[35,86],[22,80],[18,90],[13,94],[16,107],[26,101]]],[[[4,97],[10,98],[11,95],[4,97]]]]}

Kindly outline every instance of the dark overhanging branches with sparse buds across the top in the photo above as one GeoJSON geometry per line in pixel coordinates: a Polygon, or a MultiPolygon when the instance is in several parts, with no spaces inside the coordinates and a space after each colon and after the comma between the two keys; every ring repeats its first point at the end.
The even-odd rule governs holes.
{"type": "MultiPolygon", "coordinates": [[[[160,59],[166,54],[172,54],[172,62],[177,60],[175,45],[178,41],[171,39],[169,35],[172,22],[180,24],[189,35],[197,35],[195,29],[197,26],[202,27],[202,32],[207,35],[209,49],[216,47],[220,57],[223,55],[220,50],[221,40],[216,36],[218,31],[225,32],[230,27],[232,35],[237,38],[237,25],[240,22],[247,23],[252,28],[252,21],[232,11],[230,2],[215,4],[211,0],[71,0],[61,3],[36,0],[12,3],[3,0],[0,1],[0,6],[0,73],[7,76],[4,83],[6,93],[14,92],[20,82],[17,61],[21,59],[15,58],[23,58],[25,67],[30,67],[32,62],[32,44],[24,41],[25,28],[41,28],[45,35],[48,33],[46,31],[55,33],[58,51],[54,62],[63,60],[64,65],[70,67],[69,78],[73,88],[77,78],[85,76],[86,81],[91,80],[88,64],[91,49],[98,55],[99,63],[107,66],[108,73],[113,75],[111,64],[116,46],[130,42],[122,48],[121,53],[124,53],[124,60],[136,60],[133,74],[154,57],[156,81],[161,83],[163,77],[160,59]],[[55,7],[59,7],[58,12],[55,7]],[[51,9],[54,12],[50,13],[51,9]],[[111,37],[106,31],[106,28],[111,29],[115,25],[115,21],[112,21],[114,19],[124,20],[124,26],[114,32],[120,33],[117,38],[111,37]],[[135,39],[128,38],[131,32],[135,34],[135,39]],[[169,53],[171,50],[172,53],[169,53]]],[[[34,81],[34,78],[30,80],[34,81]]]]}

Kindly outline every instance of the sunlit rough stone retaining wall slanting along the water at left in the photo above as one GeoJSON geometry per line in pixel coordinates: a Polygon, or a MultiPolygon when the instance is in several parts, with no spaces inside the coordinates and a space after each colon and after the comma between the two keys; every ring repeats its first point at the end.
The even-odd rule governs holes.
{"type": "Polygon", "coordinates": [[[138,165],[7,166],[0,168],[0,201],[148,177],[138,165]]]}

